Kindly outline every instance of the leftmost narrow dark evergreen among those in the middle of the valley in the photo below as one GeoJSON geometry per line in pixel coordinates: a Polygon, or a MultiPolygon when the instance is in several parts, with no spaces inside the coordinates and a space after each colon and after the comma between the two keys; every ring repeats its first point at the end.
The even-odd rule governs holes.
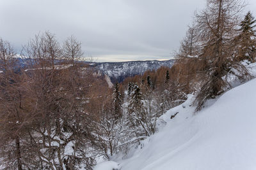
{"type": "Polygon", "coordinates": [[[122,94],[119,91],[118,83],[116,83],[113,90],[113,110],[115,119],[122,117],[122,103],[122,94]]]}

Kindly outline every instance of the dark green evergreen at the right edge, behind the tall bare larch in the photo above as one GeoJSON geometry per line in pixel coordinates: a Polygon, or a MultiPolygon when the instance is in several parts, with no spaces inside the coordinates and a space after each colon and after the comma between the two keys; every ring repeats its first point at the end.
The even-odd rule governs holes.
{"type": "Polygon", "coordinates": [[[238,59],[244,60],[248,59],[250,61],[255,60],[256,53],[256,34],[255,34],[255,24],[256,20],[252,16],[252,13],[248,11],[245,15],[244,20],[241,22],[241,34],[237,37],[239,41],[238,48],[238,59]]]}

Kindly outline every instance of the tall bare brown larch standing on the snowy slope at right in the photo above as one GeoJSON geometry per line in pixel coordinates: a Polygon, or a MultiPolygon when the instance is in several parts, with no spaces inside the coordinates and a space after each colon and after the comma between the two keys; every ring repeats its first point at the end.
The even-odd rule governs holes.
{"type": "Polygon", "coordinates": [[[200,110],[207,99],[231,87],[227,81],[228,74],[241,79],[250,76],[243,64],[234,60],[236,45],[233,39],[237,36],[243,7],[244,3],[240,0],[208,0],[205,10],[196,14],[196,27],[202,46],[196,64],[204,66],[197,71],[202,87],[196,95],[196,110],[200,110]]]}

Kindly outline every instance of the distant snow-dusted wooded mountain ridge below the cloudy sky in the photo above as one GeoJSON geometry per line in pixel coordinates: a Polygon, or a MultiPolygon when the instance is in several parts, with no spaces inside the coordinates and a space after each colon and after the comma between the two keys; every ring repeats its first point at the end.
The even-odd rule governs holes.
{"type": "Polygon", "coordinates": [[[96,69],[107,74],[111,81],[121,82],[129,76],[141,75],[147,70],[156,70],[161,66],[172,67],[175,60],[147,60],[129,62],[97,62],[92,64],[96,69]]]}

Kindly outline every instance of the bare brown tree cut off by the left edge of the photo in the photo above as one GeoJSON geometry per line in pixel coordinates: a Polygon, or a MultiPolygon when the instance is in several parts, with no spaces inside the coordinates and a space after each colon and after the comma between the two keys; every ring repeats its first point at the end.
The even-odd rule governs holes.
{"type": "Polygon", "coordinates": [[[33,169],[38,162],[29,150],[28,127],[36,116],[35,98],[28,76],[17,69],[10,43],[1,39],[0,48],[0,164],[4,169],[33,169]]]}

